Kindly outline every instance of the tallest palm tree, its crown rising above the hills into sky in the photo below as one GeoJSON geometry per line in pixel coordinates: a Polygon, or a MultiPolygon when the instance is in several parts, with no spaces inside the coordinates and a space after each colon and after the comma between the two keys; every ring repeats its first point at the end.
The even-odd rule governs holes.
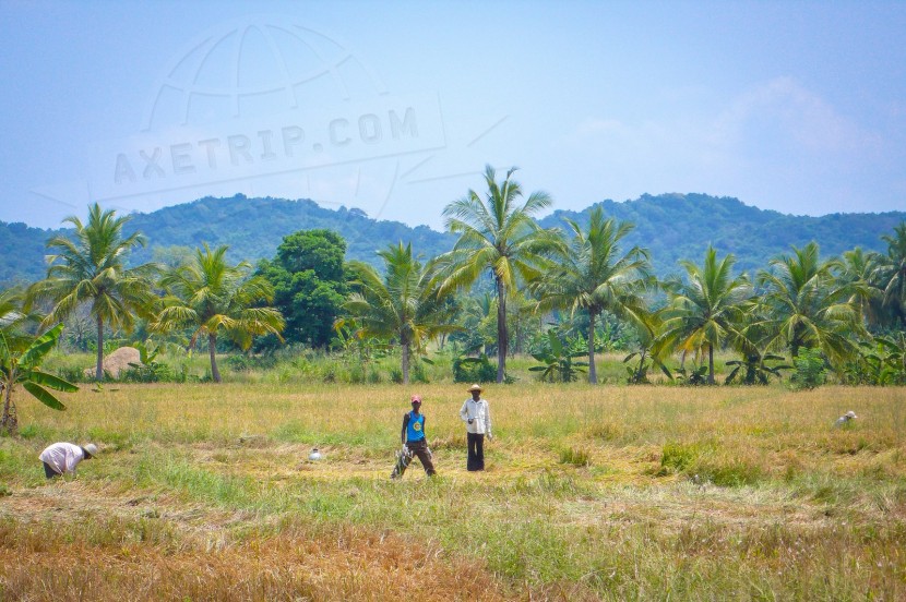
{"type": "Polygon", "coordinates": [[[450,291],[474,284],[485,269],[490,269],[497,292],[497,382],[502,383],[506,369],[508,332],[506,297],[515,290],[518,279],[532,280],[540,273],[540,253],[556,248],[559,237],[553,230],[541,229],[532,217],[550,206],[545,192],[533,192],[518,204],[523,190],[512,180],[512,168],[502,182],[491,166],[485,167],[488,186],[482,198],[474,190],[443,209],[446,229],[458,233],[453,251],[443,256],[446,265],[440,290],[450,291]]]}

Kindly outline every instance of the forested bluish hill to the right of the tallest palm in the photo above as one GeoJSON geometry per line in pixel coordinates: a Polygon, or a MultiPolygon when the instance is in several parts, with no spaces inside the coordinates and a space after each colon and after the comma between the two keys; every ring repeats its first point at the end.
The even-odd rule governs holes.
{"type": "MultiPolygon", "coordinates": [[[[906,220],[906,212],[794,216],[706,194],[644,194],[635,201],[604,201],[599,205],[606,216],[635,225],[623,239],[623,252],[634,244],[647,249],[661,277],[682,273],[679,260],[701,264],[708,244],[720,255],[736,255],[736,269],[750,273],[766,268],[777,254],[789,253],[790,245],[802,246],[812,240],[825,257],[856,246],[884,252],[881,236],[892,234],[894,226],[906,220]]],[[[546,228],[563,227],[563,218],[570,218],[584,226],[591,209],[557,210],[540,222],[546,228]]]]}

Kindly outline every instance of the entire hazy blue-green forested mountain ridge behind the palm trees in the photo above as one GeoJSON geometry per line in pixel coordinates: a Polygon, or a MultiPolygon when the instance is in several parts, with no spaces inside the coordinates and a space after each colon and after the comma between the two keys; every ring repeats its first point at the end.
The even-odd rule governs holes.
{"type": "MultiPolygon", "coordinates": [[[[624,239],[623,251],[633,244],[648,249],[660,276],[680,272],[680,258],[700,262],[708,244],[720,254],[734,253],[739,270],[767,267],[771,257],[811,240],[821,245],[824,256],[855,246],[884,251],[881,236],[892,233],[906,220],[906,212],[792,216],[706,194],[644,194],[635,201],[603,201],[599,205],[607,216],[635,224],[624,239]]],[[[584,224],[591,208],[556,210],[539,221],[544,227],[562,227],[564,218],[584,224]]],[[[401,240],[412,242],[424,258],[450,250],[456,240],[427,226],[412,228],[398,221],[375,220],[355,208],[329,209],[311,200],[249,198],[241,194],[229,198],[207,196],[150,214],[133,214],[127,232],[139,230],[148,238],[148,246],[134,254],[133,263],[150,261],[155,246],[195,248],[205,242],[212,248],[227,244],[231,261],[254,263],[272,257],[286,234],[314,228],[337,231],[348,243],[347,258],[368,262],[375,261],[375,251],[401,240]]],[[[0,221],[0,286],[43,278],[45,242],[67,231],[0,221]]]]}

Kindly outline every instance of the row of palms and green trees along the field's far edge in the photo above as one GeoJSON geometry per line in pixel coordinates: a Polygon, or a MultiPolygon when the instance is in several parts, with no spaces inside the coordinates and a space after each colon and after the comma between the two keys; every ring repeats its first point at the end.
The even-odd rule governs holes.
{"type": "MultiPolygon", "coordinates": [[[[803,350],[856,381],[882,369],[889,382],[906,381],[906,222],[881,237],[886,253],[857,248],[822,258],[812,242],[750,277],[734,270],[732,254],[708,248],[701,263],[680,262],[684,275],[659,280],[646,249],[623,248],[632,224],[597,206],[587,224],[565,219],[565,231],[543,228],[536,216],[551,205],[550,196],[526,193],[514,173],[498,178],[488,166],[484,189],[443,209],[446,230],[456,237],[452,251],[422,262],[412,244],[391,244],[378,251],[382,269],[345,262],[345,241],[329,230],[289,234],[272,260],[257,266],[231,264],[226,246],[207,244],[164,250],[156,261],[130,266],[130,253],[145,237],[126,236],[130,217],[94,204],[86,222],[65,220],[72,236],[47,242],[46,278],[0,292],[3,419],[17,382],[27,381],[26,389],[51,406],[56,398],[41,385],[65,389],[39,371],[16,378],[23,377],[21,360],[36,359],[26,351],[38,340],[41,349],[56,342],[56,325],[79,312],[94,325],[98,381],[105,335],[140,327],[181,335],[187,346],[206,345],[214,382],[220,381],[216,352],[223,339],[249,350],[255,341],[260,348],[285,341],[324,347],[344,336],[398,347],[405,383],[414,354],[422,356],[431,341],[458,337],[470,350],[496,350],[496,377],[504,382],[510,347],[521,346],[511,332],[520,328],[513,315],[579,325],[591,383],[597,382],[599,322],[615,321],[634,333],[635,382],[644,382],[649,368],[673,377],[664,362],[680,353],[683,377],[713,384],[715,350],[726,348],[741,358],[732,373],[741,382],[764,382],[776,373],[775,353],[795,362],[803,350]],[[475,324],[468,326],[467,306],[482,308],[488,320],[496,313],[496,336],[479,346],[468,344],[475,324]],[[684,372],[687,358],[693,375],[684,372]]],[[[545,357],[560,361],[564,352],[556,338],[549,337],[545,357]]]]}

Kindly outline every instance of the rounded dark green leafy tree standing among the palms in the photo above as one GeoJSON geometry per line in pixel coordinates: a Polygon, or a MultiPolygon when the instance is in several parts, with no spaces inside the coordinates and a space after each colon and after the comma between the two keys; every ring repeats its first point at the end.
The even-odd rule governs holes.
{"type": "Polygon", "coordinates": [[[274,306],[286,320],[288,342],[330,345],[348,285],[344,257],[346,241],[331,230],[300,230],[277,246],[273,261],[258,273],[274,287],[274,306]]]}

